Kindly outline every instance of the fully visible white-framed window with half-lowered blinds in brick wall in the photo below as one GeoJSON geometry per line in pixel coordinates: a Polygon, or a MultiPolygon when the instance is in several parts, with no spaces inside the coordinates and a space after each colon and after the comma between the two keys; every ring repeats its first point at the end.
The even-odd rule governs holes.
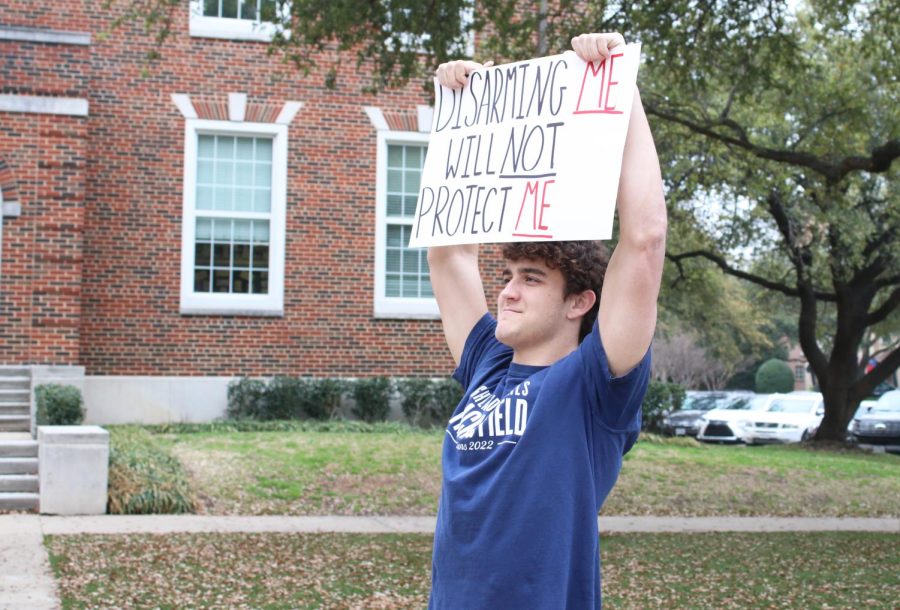
{"type": "Polygon", "coordinates": [[[283,312],[287,127],[188,120],[182,313],[283,312]]]}

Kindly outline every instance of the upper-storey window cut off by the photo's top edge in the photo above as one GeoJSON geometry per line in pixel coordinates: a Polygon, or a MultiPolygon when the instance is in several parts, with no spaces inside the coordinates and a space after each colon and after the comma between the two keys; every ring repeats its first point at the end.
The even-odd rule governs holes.
{"type": "Polygon", "coordinates": [[[278,11],[275,0],[191,0],[191,36],[228,40],[272,40],[277,21],[288,9],[278,11]]]}

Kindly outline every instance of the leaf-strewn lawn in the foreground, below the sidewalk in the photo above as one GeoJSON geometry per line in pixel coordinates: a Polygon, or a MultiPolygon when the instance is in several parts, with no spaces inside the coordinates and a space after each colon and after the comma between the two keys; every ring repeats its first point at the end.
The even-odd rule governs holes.
{"type": "MultiPolygon", "coordinates": [[[[51,536],[64,608],[422,608],[431,536],[51,536]]],[[[604,607],[896,608],[900,534],[629,534],[604,607]]]]}

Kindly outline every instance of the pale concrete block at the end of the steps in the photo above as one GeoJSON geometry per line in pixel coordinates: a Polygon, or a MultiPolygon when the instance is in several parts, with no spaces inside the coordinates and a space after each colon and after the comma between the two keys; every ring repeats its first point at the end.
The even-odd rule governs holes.
{"type": "Polygon", "coordinates": [[[38,426],[40,511],[106,513],[109,432],[99,426],[38,426]]]}

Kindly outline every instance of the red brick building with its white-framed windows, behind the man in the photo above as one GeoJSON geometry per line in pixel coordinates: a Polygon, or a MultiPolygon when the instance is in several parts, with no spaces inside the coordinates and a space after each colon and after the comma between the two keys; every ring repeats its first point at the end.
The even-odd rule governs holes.
{"type": "Polygon", "coordinates": [[[95,4],[5,2],[0,365],[69,378],[101,423],[209,419],[240,375],[449,374],[404,247],[420,83],[366,94],[348,58],[328,89],[333,52],[304,77],[215,4],[148,63],[95,4]]]}

